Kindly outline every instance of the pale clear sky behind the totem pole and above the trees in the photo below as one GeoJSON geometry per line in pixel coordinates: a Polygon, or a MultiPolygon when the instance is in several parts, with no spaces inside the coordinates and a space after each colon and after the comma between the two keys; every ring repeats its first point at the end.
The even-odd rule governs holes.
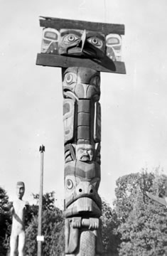
{"type": "Polygon", "coordinates": [[[102,149],[99,195],[110,205],[117,178],[157,166],[167,174],[166,0],[0,0],[0,186],[14,200],[40,187],[63,208],[64,146],[61,69],[36,65],[39,16],[125,25],[126,75],[101,73],[102,149]]]}

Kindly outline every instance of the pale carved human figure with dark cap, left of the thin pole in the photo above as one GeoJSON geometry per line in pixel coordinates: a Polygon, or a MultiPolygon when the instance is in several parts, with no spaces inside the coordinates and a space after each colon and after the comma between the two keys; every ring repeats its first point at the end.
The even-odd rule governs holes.
{"type": "Polygon", "coordinates": [[[9,203],[7,206],[1,206],[6,211],[12,213],[12,228],[10,238],[10,256],[24,256],[24,248],[26,242],[25,233],[25,213],[28,210],[28,201],[23,201],[25,185],[22,181],[16,183],[16,195],[18,199],[9,203]]]}

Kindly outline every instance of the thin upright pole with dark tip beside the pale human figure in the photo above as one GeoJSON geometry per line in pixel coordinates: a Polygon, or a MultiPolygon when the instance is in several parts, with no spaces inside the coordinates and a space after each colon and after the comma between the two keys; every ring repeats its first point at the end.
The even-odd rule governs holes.
{"type": "Polygon", "coordinates": [[[43,208],[43,152],[45,146],[40,146],[41,152],[41,174],[40,174],[40,193],[39,193],[39,210],[38,210],[38,256],[42,255],[42,208],[43,208]]]}

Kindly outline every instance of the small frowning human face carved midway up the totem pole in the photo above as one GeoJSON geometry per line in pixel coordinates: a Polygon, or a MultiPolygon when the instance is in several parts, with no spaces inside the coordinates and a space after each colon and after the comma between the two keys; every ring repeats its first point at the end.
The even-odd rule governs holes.
{"type": "Polygon", "coordinates": [[[76,146],[76,158],[80,161],[92,161],[94,149],[90,144],[78,144],[76,146]]]}

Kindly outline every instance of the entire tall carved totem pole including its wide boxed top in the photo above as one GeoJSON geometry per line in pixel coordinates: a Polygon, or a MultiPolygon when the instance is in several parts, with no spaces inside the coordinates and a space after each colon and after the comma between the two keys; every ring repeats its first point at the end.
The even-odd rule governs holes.
{"type": "Polygon", "coordinates": [[[102,255],[100,72],[126,73],[124,25],[41,17],[37,65],[62,68],[65,255],[102,255]]]}

